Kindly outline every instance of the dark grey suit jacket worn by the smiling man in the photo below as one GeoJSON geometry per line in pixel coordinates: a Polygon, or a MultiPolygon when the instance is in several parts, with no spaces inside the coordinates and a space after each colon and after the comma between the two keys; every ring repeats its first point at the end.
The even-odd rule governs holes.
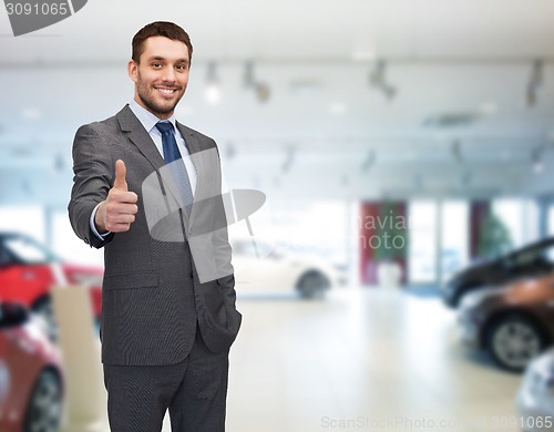
{"type": "MultiPolygon", "coordinates": [[[[181,134],[194,161],[195,154],[217,151],[215,142],[179,123],[181,134]]],[[[127,106],[115,116],[81,126],[73,143],[74,184],[69,216],[76,235],[96,248],[104,247],[104,281],[102,289],[102,361],[106,364],[151,366],[183,361],[188,354],[198,326],[207,348],[220,352],[230,347],[240,327],[242,316],[235,307],[235,279],[224,271],[214,280],[198,278],[197,265],[191,251],[191,227],[202,220],[220,227],[223,200],[211,199],[207,206],[193,205],[191,217],[182,206],[172,205],[171,214],[148,226],[143,187],[147,178],[158,178],[157,203],[175,203],[174,187],[161,174],[164,161],[148,133],[127,106]],[[115,178],[115,161],[125,162],[129,191],[138,195],[138,213],[126,233],[111,234],[103,241],[90,228],[94,207],[107,196],[115,178]],[[172,226],[179,238],[161,238],[153,229],[172,226]]],[[[219,187],[220,171],[196,166],[196,196],[211,195],[219,187]]],[[[148,188],[152,194],[152,187],[148,188]]],[[[154,192],[156,193],[156,192],[154,192]]],[[[212,194],[213,195],[213,194],[212,194]]],[[[155,202],[156,203],[156,202],[155,202]]],[[[168,207],[168,208],[170,208],[168,207]]],[[[163,212],[163,210],[161,210],[163,212]]],[[[226,229],[204,235],[214,250],[230,266],[230,246],[226,229]]],[[[203,249],[202,253],[206,255],[203,249]]]]}

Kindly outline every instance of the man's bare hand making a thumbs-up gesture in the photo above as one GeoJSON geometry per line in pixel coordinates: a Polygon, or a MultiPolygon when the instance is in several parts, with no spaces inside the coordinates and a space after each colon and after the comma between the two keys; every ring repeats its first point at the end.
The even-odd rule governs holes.
{"type": "Polygon", "coordinates": [[[96,215],[94,224],[100,234],[107,232],[124,233],[129,230],[138,212],[136,202],[138,197],[134,192],[129,192],[125,163],[121,160],[115,162],[115,181],[103,200],[96,215]]]}

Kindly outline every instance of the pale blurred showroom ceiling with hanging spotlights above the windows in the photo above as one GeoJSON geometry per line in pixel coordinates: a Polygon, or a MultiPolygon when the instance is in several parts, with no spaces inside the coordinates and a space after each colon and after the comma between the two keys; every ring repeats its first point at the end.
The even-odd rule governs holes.
{"type": "Polygon", "coordinates": [[[178,119],[218,141],[232,187],[551,194],[550,0],[89,0],[18,38],[0,13],[0,203],[66,202],[74,131],[129,101],[130,40],[156,19],[192,35],[178,119]]]}

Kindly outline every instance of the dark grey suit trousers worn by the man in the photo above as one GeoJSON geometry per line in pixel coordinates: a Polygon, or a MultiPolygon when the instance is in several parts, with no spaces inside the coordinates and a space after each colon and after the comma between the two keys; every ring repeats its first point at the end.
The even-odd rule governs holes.
{"type": "Polygon", "coordinates": [[[188,357],[167,366],[104,364],[112,432],[224,432],[228,350],[214,354],[198,330],[188,357]]]}

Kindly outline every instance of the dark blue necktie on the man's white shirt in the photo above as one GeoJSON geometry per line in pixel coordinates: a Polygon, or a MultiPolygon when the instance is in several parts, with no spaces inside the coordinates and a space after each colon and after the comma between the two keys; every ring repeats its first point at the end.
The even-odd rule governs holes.
{"type": "Polygon", "coordinates": [[[193,189],[191,187],[191,181],[188,179],[185,163],[177,147],[173,124],[171,122],[158,122],[156,123],[156,127],[162,133],[164,161],[172,171],[173,178],[175,179],[177,188],[183,197],[185,210],[187,214],[191,214],[191,206],[194,199],[193,189]]]}

